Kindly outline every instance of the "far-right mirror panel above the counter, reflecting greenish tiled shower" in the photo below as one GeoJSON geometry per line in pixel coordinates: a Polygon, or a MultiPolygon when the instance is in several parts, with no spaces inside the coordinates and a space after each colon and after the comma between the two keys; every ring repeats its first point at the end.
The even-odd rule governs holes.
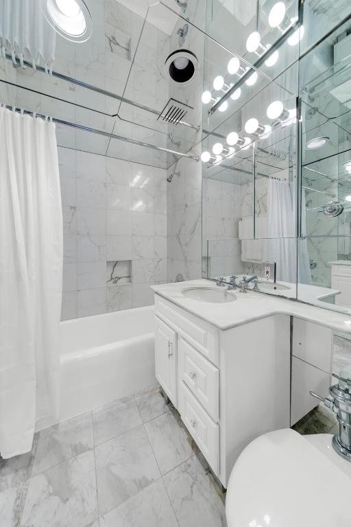
{"type": "MultiPolygon", "coordinates": [[[[304,11],[311,8],[306,2],[304,11]]],[[[324,6],[323,6],[324,5],[324,6]]],[[[315,5],[326,30],[351,14],[350,3],[338,12],[315,5]]],[[[311,32],[313,34],[313,32],[311,32]]],[[[317,33],[314,33],[316,36],[317,33]]],[[[311,39],[311,35],[306,35],[311,39]]],[[[307,40],[306,40],[307,41],[307,40]]],[[[298,298],[311,283],[310,303],[351,313],[351,23],[343,23],[300,61],[302,99],[301,237],[299,263],[307,253],[311,279],[299,273],[298,298]],[[317,293],[317,294],[315,294],[317,293]]]]}

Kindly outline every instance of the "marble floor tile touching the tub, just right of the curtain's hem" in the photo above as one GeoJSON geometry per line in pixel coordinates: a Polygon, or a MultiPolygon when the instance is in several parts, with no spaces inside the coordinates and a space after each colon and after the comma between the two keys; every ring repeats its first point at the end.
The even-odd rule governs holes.
{"type": "Polygon", "coordinates": [[[40,432],[32,476],[93,448],[91,412],[62,421],[40,432]]]}

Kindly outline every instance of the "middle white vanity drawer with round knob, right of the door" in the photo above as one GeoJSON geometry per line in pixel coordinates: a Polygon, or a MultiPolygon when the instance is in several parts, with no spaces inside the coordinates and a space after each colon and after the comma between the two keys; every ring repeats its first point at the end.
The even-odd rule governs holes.
{"type": "Polygon", "coordinates": [[[204,409],[218,421],[219,370],[182,337],[178,337],[178,372],[180,382],[184,381],[204,409]]]}

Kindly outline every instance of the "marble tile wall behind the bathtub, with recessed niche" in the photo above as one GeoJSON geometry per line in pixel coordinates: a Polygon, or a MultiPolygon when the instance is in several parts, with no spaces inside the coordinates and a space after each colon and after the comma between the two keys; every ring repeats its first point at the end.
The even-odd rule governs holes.
{"type": "Polygon", "coordinates": [[[166,171],[59,148],[62,320],[153,302],[167,280],[166,171]]]}

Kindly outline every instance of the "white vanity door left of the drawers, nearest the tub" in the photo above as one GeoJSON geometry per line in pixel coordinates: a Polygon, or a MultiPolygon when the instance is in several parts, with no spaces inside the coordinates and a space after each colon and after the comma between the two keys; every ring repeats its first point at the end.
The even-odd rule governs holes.
{"type": "Polygon", "coordinates": [[[156,379],[177,408],[177,333],[155,317],[156,379]]]}

